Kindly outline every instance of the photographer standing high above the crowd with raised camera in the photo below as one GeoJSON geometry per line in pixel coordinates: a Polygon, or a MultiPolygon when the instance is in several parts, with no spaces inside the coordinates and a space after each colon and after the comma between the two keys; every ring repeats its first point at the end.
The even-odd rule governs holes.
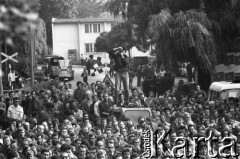
{"type": "Polygon", "coordinates": [[[115,98],[118,101],[118,94],[120,90],[120,82],[123,81],[125,101],[128,103],[129,98],[129,60],[127,55],[125,55],[126,48],[119,47],[108,51],[111,60],[114,60],[113,69],[115,74],[115,88],[116,94],[115,98]]]}

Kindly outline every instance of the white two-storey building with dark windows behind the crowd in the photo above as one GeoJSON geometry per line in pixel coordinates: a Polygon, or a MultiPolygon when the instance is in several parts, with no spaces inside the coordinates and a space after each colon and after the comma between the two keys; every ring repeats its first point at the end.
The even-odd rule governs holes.
{"type": "Polygon", "coordinates": [[[107,59],[107,54],[95,52],[95,41],[101,32],[109,32],[120,20],[110,18],[52,19],[53,54],[65,59],[82,59],[91,54],[107,59]]]}

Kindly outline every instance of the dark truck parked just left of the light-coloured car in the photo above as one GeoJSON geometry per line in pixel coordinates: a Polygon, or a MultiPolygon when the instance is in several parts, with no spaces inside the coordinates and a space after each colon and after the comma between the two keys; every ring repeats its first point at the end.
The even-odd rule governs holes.
{"type": "Polygon", "coordinates": [[[64,60],[63,57],[57,56],[57,55],[52,55],[52,56],[47,56],[45,57],[45,75],[48,76],[52,79],[58,77],[59,72],[60,72],[60,64],[59,60],[64,60]]]}

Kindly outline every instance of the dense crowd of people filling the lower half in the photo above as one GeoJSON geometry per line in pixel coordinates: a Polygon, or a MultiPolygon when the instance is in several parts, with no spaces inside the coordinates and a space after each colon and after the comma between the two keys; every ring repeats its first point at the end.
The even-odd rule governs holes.
{"type": "MultiPolygon", "coordinates": [[[[7,159],[140,159],[144,158],[142,132],[170,133],[164,141],[153,138],[154,158],[175,158],[168,150],[185,137],[190,141],[188,154],[193,153],[194,137],[232,137],[234,152],[240,153],[239,99],[206,101],[198,90],[191,96],[182,95],[177,101],[170,91],[156,97],[153,91],[146,97],[132,88],[129,102],[124,93],[114,101],[114,88],[101,81],[90,86],[79,81],[72,90],[68,83],[39,92],[26,92],[21,97],[14,92],[1,97],[0,102],[0,158],[7,159]],[[121,113],[122,107],[148,107],[152,116],[139,116],[138,124],[121,113]]],[[[154,135],[159,135],[155,134],[154,135]]],[[[229,142],[213,143],[211,153],[229,142]]],[[[196,145],[195,145],[196,146],[196,145]]],[[[197,145],[199,146],[199,145],[197,145]]],[[[210,158],[208,144],[199,146],[197,158],[210,158]]],[[[229,152],[230,149],[224,151],[229,152]]],[[[193,157],[193,156],[192,156],[193,157]]],[[[220,158],[220,156],[219,156],[220,158]]]]}

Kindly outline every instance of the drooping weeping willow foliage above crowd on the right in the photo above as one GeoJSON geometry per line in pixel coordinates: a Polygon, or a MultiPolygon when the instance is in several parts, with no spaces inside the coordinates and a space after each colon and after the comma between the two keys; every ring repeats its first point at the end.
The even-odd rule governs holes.
{"type": "Polygon", "coordinates": [[[150,18],[149,35],[156,40],[161,62],[171,68],[174,62],[191,61],[211,70],[216,63],[216,46],[212,22],[204,12],[188,10],[171,15],[161,11],[150,18]]]}

